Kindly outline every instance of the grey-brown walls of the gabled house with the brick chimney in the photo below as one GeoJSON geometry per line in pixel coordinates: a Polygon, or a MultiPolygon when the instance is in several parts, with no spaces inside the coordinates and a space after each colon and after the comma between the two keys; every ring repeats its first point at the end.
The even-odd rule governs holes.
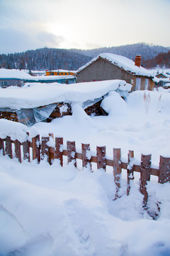
{"type": "MultiPolygon", "coordinates": [[[[141,78],[140,90],[145,90],[145,77],[132,75],[117,65],[113,65],[112,63],[99,58],[77,74],[77,82],[119,79],[132,84],[133,91],[136,90],[136,77],[141,78]]],[[[150,80],[151,79],[149,78],[148,87],[150,87],[150,80]]]]}

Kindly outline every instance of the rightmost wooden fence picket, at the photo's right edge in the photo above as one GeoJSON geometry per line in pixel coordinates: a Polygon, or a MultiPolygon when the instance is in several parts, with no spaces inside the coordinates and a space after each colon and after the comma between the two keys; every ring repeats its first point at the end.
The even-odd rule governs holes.
{"type": "Polygon", "coordinates": [[[160,156],[159,162],[159,183],[170,181],[170,158],[160,156]]]}

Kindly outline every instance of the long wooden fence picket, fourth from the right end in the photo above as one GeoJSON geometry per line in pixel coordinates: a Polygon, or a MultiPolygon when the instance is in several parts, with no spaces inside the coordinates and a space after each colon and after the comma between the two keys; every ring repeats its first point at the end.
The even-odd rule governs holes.
{"type": "Polygon", "coordinates": [[[122,173],[121,149],[113,149],[113,175],[115,178],[115,199],[117,199],[120,188],[120,175],[122,173]]]}

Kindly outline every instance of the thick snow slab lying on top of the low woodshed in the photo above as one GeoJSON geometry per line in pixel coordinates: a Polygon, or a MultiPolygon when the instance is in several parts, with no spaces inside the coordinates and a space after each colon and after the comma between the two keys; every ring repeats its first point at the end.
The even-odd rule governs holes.
{"type": "Polygon", "coordinates": [[[26,83],[23,87],[0,88],[0,107],[21,110],[40,107],[55,102],[76,102],[80,105],[114,90],[131,90],[132,85],[123,80],[79,82],[77,84],[26,83]]]}

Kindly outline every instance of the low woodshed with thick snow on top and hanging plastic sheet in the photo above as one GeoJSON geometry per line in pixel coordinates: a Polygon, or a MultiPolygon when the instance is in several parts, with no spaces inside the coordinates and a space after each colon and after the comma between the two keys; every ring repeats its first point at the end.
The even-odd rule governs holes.
{"type": "Polygon", "coordinates": [[[72,105],[79,105],[86,114],[107,115],[101,101],[108,92],[120,97],[131,86],[122,80],[81,82],[72,85],[58,83],[29,83],[21,88],[1,88],[0,119],[9,119],[32,126],[36,122],[50,122],[57,117],[72,115],[72,105]]]}

